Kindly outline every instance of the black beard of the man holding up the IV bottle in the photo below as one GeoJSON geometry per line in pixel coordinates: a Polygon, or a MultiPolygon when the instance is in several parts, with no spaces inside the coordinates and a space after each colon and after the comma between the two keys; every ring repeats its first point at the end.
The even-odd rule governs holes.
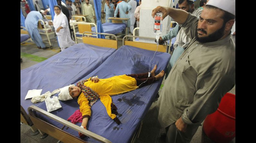
{"type": "Polygon", "coordinates": [[[197,31],[196,31],[196,35],[195,35],[195,40],[200,42],[200,43],[207,43],[207,42],[217,41],[217,40],[219,40],[224,35],[224,29],[225,29],[225,24],[223,24],[222,28],[220,28],[219,30],[213,32],[209,36],[198,37],[197,31],[204,32],[205,34],[207,33],[204,29],[198,28],[197,31]]]}

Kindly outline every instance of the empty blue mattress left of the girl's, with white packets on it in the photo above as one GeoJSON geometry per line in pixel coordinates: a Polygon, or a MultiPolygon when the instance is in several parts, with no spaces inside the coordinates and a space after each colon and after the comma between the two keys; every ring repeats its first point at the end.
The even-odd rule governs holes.
{"type": "Polygon", "coordinates": [[[21,70],[21,106],[27,114],[27,108],[31,105],[45,106],[44,101],[33,104],[31,99],[25,100],[28,90],[43,89],[43,94],[77,82],[100,66],[114,51],[112,48],[79,43],[43,62],[21,70]]]}

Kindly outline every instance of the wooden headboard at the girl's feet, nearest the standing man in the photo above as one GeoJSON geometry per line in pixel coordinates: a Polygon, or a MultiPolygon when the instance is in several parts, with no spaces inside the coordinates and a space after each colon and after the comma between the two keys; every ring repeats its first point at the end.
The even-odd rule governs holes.
{"type": "MultiPolygon", "coordinates": [[[[134,46],[137,48],[141,49],[146,49],[150,51],[156,51],[157,45],[156,44],[151,44],[151,43],[144,43],[144,42],[138,42],[138,41],[124,41],[126,37],[136,37],[136,38],[143,38],[143,39],[152,39],[155,40],[155,38],[150,38],[150,37],[141,37],[141,36],[131,36],[131,35],[126,35],[123,37],[123,45],[128,45],[128,46],[134,46]]],[[[168,51],[168,45],[158,45],[158,52],[167,52],[168,51]]]]}

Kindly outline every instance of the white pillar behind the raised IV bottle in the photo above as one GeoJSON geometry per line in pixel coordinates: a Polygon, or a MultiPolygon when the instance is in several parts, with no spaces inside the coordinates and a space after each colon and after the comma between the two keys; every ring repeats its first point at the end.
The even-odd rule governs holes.
{"type": "MultiPolygon", "coordinates": [[[[139,12],[139,36],[155,38],[156,35],[153,33],[154,29],[154,18],[151,16],[152,10],[159,6],[173,7],[174,3],[172,0],[142,0],[141,9],[139,12]]],[[[170,31],[171,17],[166,16],[163,20],[162,34],[166,35],[170,31]]],[[[140,42],[155,43],[154,40],[139,39],[140,42]]]]}

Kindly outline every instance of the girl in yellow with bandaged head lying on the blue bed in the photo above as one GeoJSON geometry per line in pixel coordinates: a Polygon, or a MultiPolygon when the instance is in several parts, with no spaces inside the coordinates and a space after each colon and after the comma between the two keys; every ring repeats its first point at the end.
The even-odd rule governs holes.
{"type": "MultiPolygon", "coordinates": [[[[77,83],[77,86],[69,85],[61,89],[58,99],[70,100],[78,97],[78,104],[80,110],[75,111],[73,115],[68,118],[72,123],[81,122],[81,128],[87,130],[86,126],[90,119],[90,107],[100,98],[100,101],[106,107],[107,113],[111,119],[117,124],[120,124],[117,112],[117,107],[112,102],[110,96],[119,95],[125,92],[136,90],[139,87],[149,85],[154,81],[162,78],[165,75],[162,70],[158,75],[155,75],[156,66],[149,73],[118,75],[106,79],[99,79],[97,76],[90,77],[87,80],[82,80],[77,83]],[[148,76],[150,75],[150,76],[148,76]]],[[[85,135],[79,132],[81,138],[85,135]]]]}

